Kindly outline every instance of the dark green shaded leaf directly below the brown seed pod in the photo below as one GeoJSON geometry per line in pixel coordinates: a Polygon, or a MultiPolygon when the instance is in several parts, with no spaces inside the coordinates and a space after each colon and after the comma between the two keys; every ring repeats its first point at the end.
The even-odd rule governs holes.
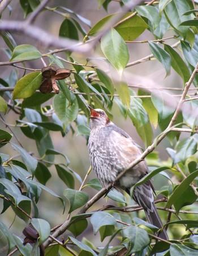
{"type": "Polygon", "coordinates": [[[33,106],[41,105],[42,103],[45,103],[46,101],[51,99],[51,97],[53,97],[53,96],[54,96],[54,93],[52,93],[52,92],[47,93],[47,94],[35,92],[35,93],[33,93],[32,96],[23,100],[22,107],[23,108],[32,108],[33,106]]]}

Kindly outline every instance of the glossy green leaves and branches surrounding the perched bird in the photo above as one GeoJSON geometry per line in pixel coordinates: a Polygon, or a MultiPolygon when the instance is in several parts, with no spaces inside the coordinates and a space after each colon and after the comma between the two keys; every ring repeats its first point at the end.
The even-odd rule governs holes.
{"type": "Polygon", "coordinates": [[[0,62],[6,70],[0,78],[1,214],[12,209],[24,221],[26,238],[23,241],[22,233],[16,236],[10,232],[1,220],[1,255],[18,255],[18,251],[21,255],[42,255],[44,251],[46,255],[197,255],[195,1],[98,0],[98,9],[106,12],[96,24],[67,8],[64,1],[57,6],[56,1],[48,0],[18,1],[24,19],[6,20],[4,12],[14,11],[9,2],[0,3],[1,51],[7,56],[7,61],[0,62]],[[119,11],[107,14],[112,5],[119,11]],[[41,12],[62,16],[58,37],[35,25],[41,12]],[[17,44],[16,32],[24,40],[30,37],[32,45],[17,44]],[[145,48],[148,56],[131,61],[135,50],[144,53],[145,48]],[[34,63],[39,63],[38,69],[33,68],[34,63]],[[157,80],[152,85],[147,79],[133,80],[131,67],[141,69],[143,63],[150,72],[164,70],[164,87],[157,80]],[[162,184],[156,191],[162,195],[158,208],[163,210],[160,215],[170,241],[156,239],[158,228],[144,220],[127,195],[110,190],[111,184],[109,192],[102,189],[96,179],[89,179],[91,169],[80,177],[71,169],[68,157],[54,148],[52,131],[63,137],[78,133],[86,143],[88,105],[105,109],[110,118],[117,105],[119,114],[129,117],[135,126],[147,150],[132,165],[147,157],[150,168],[136,185],[158,177],[162,184]],[[19,131],[22,140],[18,139],[19,131]],[[156,147],[165,138],[169,140],[169,159],[162,161],[156,147]],[[36,144],[36,152],[28,152],[25,140],[36,144]],[[17,153],[8,155],[7,148],[17,153]],[[66,186],[61,195],[48,187],[51,170],[66,186]],[[40,218],[42,191],[61,200],[67,213],[63,224],[50,227],[40,218]],[[89,191],[96,195],[91,197],[89,191]],[[97,208],[104,195],[114,206],[97,208]],[[102,246],[86,237],[91,226],[93,234],[104,241],[102,246]]]}

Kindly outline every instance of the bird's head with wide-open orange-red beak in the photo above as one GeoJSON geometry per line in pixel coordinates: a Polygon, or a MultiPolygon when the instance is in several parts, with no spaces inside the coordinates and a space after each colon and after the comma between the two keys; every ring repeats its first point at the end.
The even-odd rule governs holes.
{"type": "Polygon", "coordinates": [[[97,129],[103,126],[106,126],[110,123],[109,117],[102,109],[93,109],[89,106],[91,115],[90,115],[90,125],[91,129],[97,129]]]}

